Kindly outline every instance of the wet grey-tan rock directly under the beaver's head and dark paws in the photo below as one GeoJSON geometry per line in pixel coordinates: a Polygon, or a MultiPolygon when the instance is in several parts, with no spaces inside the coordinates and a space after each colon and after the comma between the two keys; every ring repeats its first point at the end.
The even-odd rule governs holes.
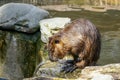
{"type": "Polygon", "coordinates": [[[42,66],[34,73],[34,76],[41,77],[58,77],[58,78],[69,78],[75,79],[80,75],[81,69],[77,69],[72,74],[62,72],[62,67],[64,67],[65,60],[58,62],[46,61],[42,66]],[[79,72],[79,73],[78,73],[79,72]]]}

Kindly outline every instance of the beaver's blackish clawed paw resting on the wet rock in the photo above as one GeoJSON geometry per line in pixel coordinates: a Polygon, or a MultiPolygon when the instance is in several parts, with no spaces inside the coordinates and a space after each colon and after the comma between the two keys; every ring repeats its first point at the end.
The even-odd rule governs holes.
{"type": "Polygon", "coordinates": [[[75,69],[77,69],[77,66],[73,64],[66,64],[65,66],[62,67],[61,72],[69,73],[73,72],[75,69]]]}

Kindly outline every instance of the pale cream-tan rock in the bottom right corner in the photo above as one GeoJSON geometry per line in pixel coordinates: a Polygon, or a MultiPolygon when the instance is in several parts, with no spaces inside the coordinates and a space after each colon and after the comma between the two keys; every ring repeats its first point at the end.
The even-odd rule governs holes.
{"type": "MultiPolygon", "coordinates": [[[[105,66],[91,66],[86,67],[81,71],[81,77],[87,77],[93,80],[96,77],[102,77],[108,80],[120,79],[120,63],[118,64],[108,64],[105,66]],[[89,74],[89,75],[88,75],[89,74]]],[[[105,79],[105,80],[106,80],[105,79]]]]}

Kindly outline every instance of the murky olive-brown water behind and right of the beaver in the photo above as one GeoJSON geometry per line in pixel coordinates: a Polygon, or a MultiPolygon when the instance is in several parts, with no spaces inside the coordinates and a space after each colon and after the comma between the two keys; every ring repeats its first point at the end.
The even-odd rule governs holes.
{"type": "Polygon", "coordinates": [[[50,11],[53,17],[70,17],[72,20],[86,18],[93,22],[102,35],[101,56],[99,65],[120,63],[120,11],[50,11]]]}

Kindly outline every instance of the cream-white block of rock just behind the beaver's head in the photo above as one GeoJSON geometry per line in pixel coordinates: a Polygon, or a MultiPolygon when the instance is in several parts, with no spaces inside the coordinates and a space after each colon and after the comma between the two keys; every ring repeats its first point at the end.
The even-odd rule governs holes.
{"type": "Polygon", "coordinates": [[[70,18],[55,17],[50,19],[41,20],[40,31],[41,31],[41,40],[45,43],[48,42],[48,38],[54,33],[58,32],[64,26],[70,23],[70,18]]]}

